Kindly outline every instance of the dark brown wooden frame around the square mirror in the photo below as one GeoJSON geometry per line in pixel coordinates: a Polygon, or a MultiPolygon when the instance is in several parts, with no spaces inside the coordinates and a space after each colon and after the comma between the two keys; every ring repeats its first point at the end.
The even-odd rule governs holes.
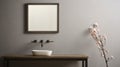
{"type": "Polygon", "coordinates": [[[38,34],[48,34],[48,33],[58,33],[59,32],[59,3],[26,3],[24,5],[24,14],[25,14],[25,33],[38,33],[38,34]],[[28,31],[28,6],[29,5],[57,5],[57,31],[28,31]]]}

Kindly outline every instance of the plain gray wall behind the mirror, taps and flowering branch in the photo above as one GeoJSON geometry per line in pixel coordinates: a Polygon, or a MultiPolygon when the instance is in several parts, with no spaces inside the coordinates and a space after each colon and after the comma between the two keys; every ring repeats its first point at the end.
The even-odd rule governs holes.
{"type": "MultiPolygon", "coordinates": [[[[109,67],[119,67],[119,18],[119,0],[0,0],[0,56],[25,55],[31,54],[33,49],[50,49],[54,51],[54,54],[86,54],[89,56],[89,67],[105,67],[94,40],[87,33],[90,24],[98,22],[101,32],[108,37],[106,47],[110,54],[115,56],[115,59],[109,63],[109,67]],[[58,34],[23,33],[24,3],[58,2],[60,4],[60,32],[58,34]],[[30,43],[34,39],[51,39],[54,43],[40,48],[40,45],[30,43]]],[[[0,63],[2,65],[2,61],[0,63]]],[[[60,67],[80,65],[74,62],[63,63],[67,65],[60,67]]]]}

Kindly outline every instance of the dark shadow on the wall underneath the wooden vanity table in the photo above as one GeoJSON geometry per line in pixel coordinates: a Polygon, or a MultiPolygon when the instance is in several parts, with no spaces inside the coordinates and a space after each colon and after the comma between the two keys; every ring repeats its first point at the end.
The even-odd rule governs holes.
{"type": "MultiPolygon", "coordinates": [[[[56,61],[56,60],[36,60],[36,61],[10,61],[9,67],[79,67],[77,61],[56,61]]],[[[3,67],[3,59],[0,59],[0,67],[3,67]]]]}

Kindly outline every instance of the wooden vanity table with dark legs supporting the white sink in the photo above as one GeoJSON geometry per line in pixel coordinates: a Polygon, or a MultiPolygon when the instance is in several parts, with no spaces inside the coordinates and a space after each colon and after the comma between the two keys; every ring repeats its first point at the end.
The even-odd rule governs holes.
{"type": "Polygon", "coordinates": [[[10,61],[21,60],[57,60],[57,61],[82,61],[82,67],[88,67],[88,56],[85,55],[52,55],[52,56],[32,56],[32,55],[10,55],[2,56],[4,67],[9,67],[10,61]]]}

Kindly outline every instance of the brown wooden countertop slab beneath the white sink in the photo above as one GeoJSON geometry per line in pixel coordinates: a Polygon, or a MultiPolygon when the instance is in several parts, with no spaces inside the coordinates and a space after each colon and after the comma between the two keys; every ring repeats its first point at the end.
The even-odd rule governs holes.
{"type": "Polygon", "coordinates": [[[86,55],[51,55],[51,56],[33,56],[33,55],[7,55],[2,56],[5,60],[87,60],[86,55]]]}

